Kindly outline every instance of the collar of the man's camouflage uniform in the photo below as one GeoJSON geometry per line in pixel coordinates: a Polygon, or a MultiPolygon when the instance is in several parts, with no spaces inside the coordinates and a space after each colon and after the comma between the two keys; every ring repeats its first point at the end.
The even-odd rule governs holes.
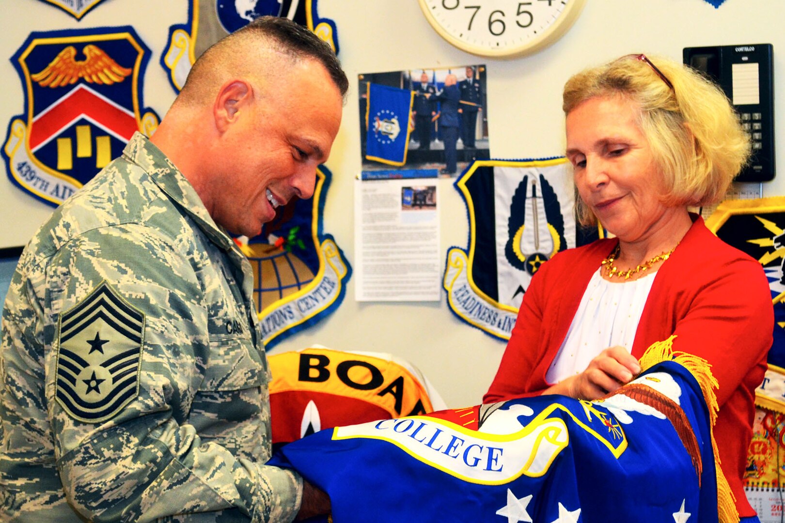
{"type": "Polygon", "coordinates": [[[161,191],[166,193],[183,211],[191,216],[204,233],[216,245],[224,250],[235,249],[235,242],[229,238],[227,232],[214,222],[210,213],[196,194],[194,187],[186,180],[183,173],[166,158],[166,154],[155,147],[147,136],[142,133],[133,133],[131,140],[122,151],[130,162],[139,165],[155,182],[161,191]]]}

